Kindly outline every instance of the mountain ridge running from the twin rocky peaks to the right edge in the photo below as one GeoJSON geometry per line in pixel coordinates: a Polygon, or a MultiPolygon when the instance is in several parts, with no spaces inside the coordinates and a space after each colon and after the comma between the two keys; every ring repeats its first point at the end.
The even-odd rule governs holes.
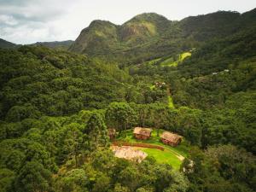
{"type": "Polygon", "coordinates": [[[244,14],[218,11],[189,16],[180,21],[145,13],[121,26],[105,20],[94,20],[82,30],[69,50],[137,63],[197,48],[206,41],[230,36],[253,25],[255,9],[244,14]]]}

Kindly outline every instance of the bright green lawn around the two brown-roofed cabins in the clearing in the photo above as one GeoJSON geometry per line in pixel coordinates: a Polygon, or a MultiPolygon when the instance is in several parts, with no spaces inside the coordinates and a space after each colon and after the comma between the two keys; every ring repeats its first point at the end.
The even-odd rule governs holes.
{"type": "MultiPolygon", "coordinates": [[[[187,157],[188,155],[189,146],[185,141],[173,148],[160,142],[160,137],[157,137],[157,131],[155,129],[152,131],[151,138],[148,140],[137,140],[133,137],[132,131],[133,130],[128,130],[123,132],[122,136],[117,138],[117,141],[129,143],[150,143],[164,147],[164,151],[156,148],[139,148],[146,152],[148,156],[153,156],[158,163],[167,163],[173,168],[179,169],[180,165],[182,164],[182,158],[187,157]]],[[[163,130],[160,130],[160,134],[162,132],[163,130]]]]}

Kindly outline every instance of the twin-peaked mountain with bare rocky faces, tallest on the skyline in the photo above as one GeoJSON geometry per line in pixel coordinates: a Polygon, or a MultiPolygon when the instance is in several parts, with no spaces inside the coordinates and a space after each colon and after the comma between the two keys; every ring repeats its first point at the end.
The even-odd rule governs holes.
{"type": "Polygon", "coordinates": [[[155,43],[171,26],[172,21],[153,13],[137,15],[121,26],[105,20],[94,20],[82,30],[69,50],[115,58],[119,55],[137,55],[135,52],[140,49],[143,55],[143,49],[148,49],[148,42],[155,43]]]}

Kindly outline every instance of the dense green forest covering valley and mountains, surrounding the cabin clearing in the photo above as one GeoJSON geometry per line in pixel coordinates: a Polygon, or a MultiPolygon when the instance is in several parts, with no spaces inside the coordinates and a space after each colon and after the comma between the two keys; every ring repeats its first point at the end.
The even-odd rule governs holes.
{"type": "Polygon", "coordinates": [[[255,191],[255,10],[0,49],[0,191],[255,191]],[[182,166],[116,158],[108,128],[135,126],[181,135],[182,166]]]}

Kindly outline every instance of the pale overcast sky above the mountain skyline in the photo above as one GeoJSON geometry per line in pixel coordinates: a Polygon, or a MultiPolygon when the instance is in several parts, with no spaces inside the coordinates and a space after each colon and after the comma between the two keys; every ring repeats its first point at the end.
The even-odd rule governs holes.
{"type": "Polygon", "coordinates": [[[75,40],[92,20],[121,25],[142,13],[169,20],[218,10],[240,13],[256,0],[0,0],[0,38],[15,44],[75,40]]]}

